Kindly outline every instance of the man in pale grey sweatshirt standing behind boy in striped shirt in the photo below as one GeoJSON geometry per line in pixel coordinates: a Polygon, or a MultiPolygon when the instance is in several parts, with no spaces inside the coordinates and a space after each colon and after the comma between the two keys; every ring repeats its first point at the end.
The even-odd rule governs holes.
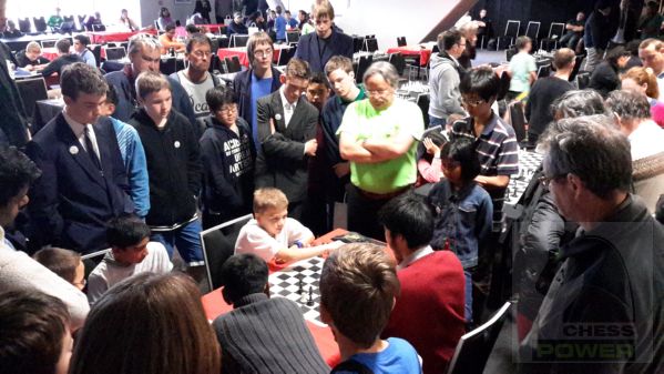
{"type": "Polygon", "coordinates": [[[456,29],[443,31],[438,36],[438,48],[441,52],[431,57],[431,101],[429,103],[429,125],[445,125],[451,114],[466,114],[461,107],[459,83],[461,80],[458,58],[466,49],[466,38],[456,29]]]}

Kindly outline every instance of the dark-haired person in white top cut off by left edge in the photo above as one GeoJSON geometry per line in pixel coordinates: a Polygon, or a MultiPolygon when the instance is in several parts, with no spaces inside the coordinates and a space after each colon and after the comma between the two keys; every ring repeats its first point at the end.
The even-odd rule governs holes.
{"type": "Polygon", "coordinates": [[[37,289],[60,299],[71,315],[71,330],[83,325],[90,306],[85,295],[55,275],[4,236],[19,210],[28,204],[28,189],[41,172],[28,156],[16,148],[0,146],[0,290],[37,289]]]}

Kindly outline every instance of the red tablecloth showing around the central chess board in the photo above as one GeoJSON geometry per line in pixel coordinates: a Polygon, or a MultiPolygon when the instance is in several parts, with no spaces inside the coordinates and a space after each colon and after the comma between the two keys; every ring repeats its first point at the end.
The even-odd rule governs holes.
{"type": "MultiPolygon", "coordinates": [[[[326,235],[318,237],[314,243],[315,244],[329,243],[333,237],[335,237],[337,235],[343,235],[345,233],[347,233],[346,230],[337,229],[337,230],[334,230],[334,231],[327,233],[326,235]]],[[[270,265],[270,270],[276,270],[276,269],[274,265],[270,265]]],[[[207,320],[211,320],[211,321],[213,321],[217,316],[219,316],[224,313],[228,313],[233,310],[233,306],[231,306],[224,302],[224,297],[222,296],[221,289],[215,290],[208,294],[205,294],[201,301],[203,302],[203,309],[205,310],[207,320]]],[[[341,360],[341,356],[339,354],[339,347],[337,345],[337,342],[335,341],[335,336],[333,335],[331,330],[329,330],[329,327],[321,327],[321,326],[315,325],[315,324],[310,323],[309,321],[305,321],[305,322],[307,323],[307,327],[309,327],[309,331],[311,332],[311,335],[314,336],[314,341],[316,341],[316,345],[318,346],[318,350],[320,351],[323,358],[325,360],[325,362],[327,362],[328,365],[334,367],[336,364],[339,363],[339,361],[341,360]]]]}

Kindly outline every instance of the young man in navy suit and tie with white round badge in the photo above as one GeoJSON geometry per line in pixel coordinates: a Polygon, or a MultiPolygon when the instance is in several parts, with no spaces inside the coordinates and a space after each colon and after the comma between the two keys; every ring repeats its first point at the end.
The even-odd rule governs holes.
{"type": "Polygon", "coordinates": [[[28,143],[42,175],[30,190],[30,242],[91,253],[108,247],[105,223],[133,212],[113,124],[99,119],[106,82],[94,68],[63,69],[64,110],[28,143]],[[99,120],[99,121],[98,121],[99,120]]]}

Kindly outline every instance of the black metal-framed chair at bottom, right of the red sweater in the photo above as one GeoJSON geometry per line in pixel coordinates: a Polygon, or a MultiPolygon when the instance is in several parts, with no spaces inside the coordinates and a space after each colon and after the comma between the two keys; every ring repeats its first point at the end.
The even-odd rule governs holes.
{"type": "Polygon", "coordinates": [[[461,336],[447,374],[482,374],[511,305],[504,303],[487,323],[461,336]]]}

